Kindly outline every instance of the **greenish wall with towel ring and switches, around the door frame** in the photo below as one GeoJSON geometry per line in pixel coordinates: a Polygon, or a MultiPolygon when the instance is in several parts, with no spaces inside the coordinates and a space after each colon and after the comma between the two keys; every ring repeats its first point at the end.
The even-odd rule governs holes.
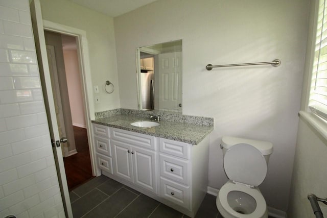
{"type": "Polygon", "coordinates": [[[113,18],[67,0],[40,0],[40,3],[43,19],[86,32],[92,84],[100,90],[95,93],[100,98],[95,112],[120,108],[113,18]],[[115,86],[112,94],[104,90],[106,80],[115,86]]]}

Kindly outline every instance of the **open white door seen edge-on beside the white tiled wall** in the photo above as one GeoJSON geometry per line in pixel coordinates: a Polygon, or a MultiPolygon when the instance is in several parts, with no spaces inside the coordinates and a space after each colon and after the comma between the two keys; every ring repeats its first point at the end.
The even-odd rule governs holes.
{"type": "Polygon", "coordinates": [[[56,169],[59,179],[61,198],[64,205],[66,217],[73,217],[71,200],[69,199],[65,168],[62,158],[62,152],[60,148],[60,136],[58,132],[48,58],[46,56],[41,5],[39,0],[33,0],[30,4],[30,9],[31,9],[32,27],[33,27],[33,33],[35,38],[36,54],[37,54],[37,60],[39,65],[39,71],[40,71],[40,79],[41,79],[46,115],[48,116],[50,135],[52,140],[54,141],[53,153],[56,162],[56,169]]]}

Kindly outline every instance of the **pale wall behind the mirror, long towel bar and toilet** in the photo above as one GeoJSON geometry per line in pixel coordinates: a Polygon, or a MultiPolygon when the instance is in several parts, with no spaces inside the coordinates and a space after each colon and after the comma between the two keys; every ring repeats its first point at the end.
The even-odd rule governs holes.
{"type": "Polygon", "coordinates": [[[308,0],[159,0],[114,18],[121,107],[137,109],[135,49],[183,43],[183,114],[215,118],[209,186],[226,181],[223,135],[271,141],[267,204],[286,211],[305,59],[308,0]],[[216,68],[281,59],[279,67],[216,68]]]}

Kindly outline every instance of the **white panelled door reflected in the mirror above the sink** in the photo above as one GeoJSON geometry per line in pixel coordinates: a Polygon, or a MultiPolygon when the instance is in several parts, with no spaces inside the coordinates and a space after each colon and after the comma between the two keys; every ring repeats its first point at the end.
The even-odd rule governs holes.
{"type": "Polygon", "coordinates": [[[159,54],[158,65],[158,105],[160,110],[182,112],[182,53],[159,54]]]}

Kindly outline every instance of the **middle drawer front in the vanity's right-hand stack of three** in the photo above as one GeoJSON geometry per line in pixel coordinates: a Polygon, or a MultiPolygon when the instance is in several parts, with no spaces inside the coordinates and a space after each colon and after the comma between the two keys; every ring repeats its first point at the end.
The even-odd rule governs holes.
{"type": "Polygon", "coordinates": [[[189,185],[189,162],[160,154],[160,175],[189,185]]]}

